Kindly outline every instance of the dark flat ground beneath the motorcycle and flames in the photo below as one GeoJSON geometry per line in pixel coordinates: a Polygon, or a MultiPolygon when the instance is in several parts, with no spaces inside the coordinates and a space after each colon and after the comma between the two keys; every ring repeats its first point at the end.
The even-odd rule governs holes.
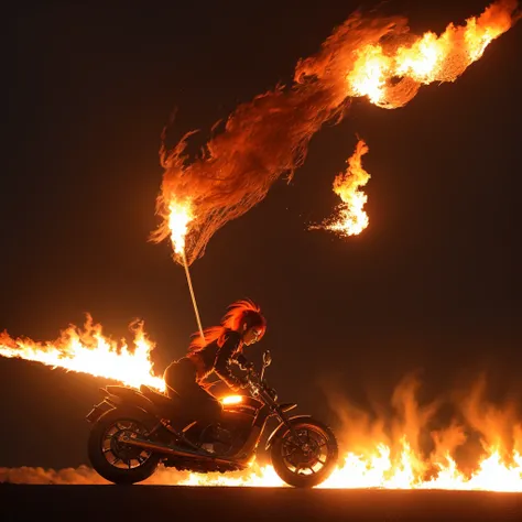
{"type": "Polygon", "coordinates": [[[522,521],[521,493],[0,485],[2,522],[522,521]]]}

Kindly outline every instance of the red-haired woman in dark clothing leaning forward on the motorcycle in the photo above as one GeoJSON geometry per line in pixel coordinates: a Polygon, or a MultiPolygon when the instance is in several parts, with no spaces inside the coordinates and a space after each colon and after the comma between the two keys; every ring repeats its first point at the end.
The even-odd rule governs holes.
{"type": "Polygon", "coordinates": [[[259,306],[250,300],[232,303],[219,326],[194,334],[187,356],[171,363],[164,373],[168,396],[178,395],[187,406],[191,420],[204,425],[219,424],[221,404],[204,388],[204,381],[213,372],[235,391],[242,380],[231,372],[231,363],[244,365],[242,350],[260,340],[267,329],[267,320],[259,306]]]}

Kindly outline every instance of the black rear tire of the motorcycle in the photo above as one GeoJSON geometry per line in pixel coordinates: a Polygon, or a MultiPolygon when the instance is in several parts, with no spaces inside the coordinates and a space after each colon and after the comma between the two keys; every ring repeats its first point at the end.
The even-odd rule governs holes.
{"type": "Polygon", "coordinates": [[[88,456],[93,468],[109,482],[118,485],[131,485],[148,479],[155,471],[160,456],[149,450],[122,445],[109,433],[113,429],[141,432],[152,429],[154,424],[154,418],[138,409],[122,407],[104,413],[89,434],[88,456]],[[112,460],[112,457],[115,459],[111,463],[109,460],[112,460]],[[120,466],[118,460],[123,466],[120,466]],[[133,461],[135,466],[131,467],[133,461]]]}

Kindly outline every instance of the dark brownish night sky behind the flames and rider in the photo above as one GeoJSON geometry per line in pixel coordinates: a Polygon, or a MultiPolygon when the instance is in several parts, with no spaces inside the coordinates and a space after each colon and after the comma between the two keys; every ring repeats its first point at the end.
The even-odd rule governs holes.
{"type": "MultiPolygon", "coordinates": [[[[44,2],[8,12],[0,177],[0,330],[53,340],[90,313],[113,338],[144,320],[155,370],[197,328],[184,270],[149,233],[172,110],[175,144],[239,102],[290,83],[355,9],[374,2],[44,2]],[[208,6],[207,6],[208,3],[208,6]],[[259,4],[261,6],[261,4],[259,4]]],[[[480,14],[487,1],[390,0],[415,33],[480,14]]],[[[250,297],[269,328],[272,384],[335,425],[325,381],[366,407],[418,371],[427,399],[486,371],[490,399],[522,392],[520,229],[522,29],[493,41],[453,84],[404,108],[356,99],[283,180],[227,224],[191,268],[205,326],[250,297]],[[309,231],[338,203],[356,134],[370,225],[339,239],[309,231]]],[[[87,464],[85,421],[107,384],[0,358],[0,466],[87,464]]]]}

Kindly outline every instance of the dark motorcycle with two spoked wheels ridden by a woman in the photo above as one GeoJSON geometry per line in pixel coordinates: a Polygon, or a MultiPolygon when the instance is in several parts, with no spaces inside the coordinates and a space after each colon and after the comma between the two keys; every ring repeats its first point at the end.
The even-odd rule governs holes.
{"type": "Polygon", "coordinates": [[[312,488],[333,472],[338,445],[331,429],[311,415],[289,415],[295,403],[278,402],[264,379],[272,361],[263,354],[261,372],[243,368],[248,394],[221,400],[222,422],[229,441],[210,444],[208,426],[186,420],[183,405],[142,384],[140,390],[120,385],[101,388],[101,402],[86,418],[93,424],[88,455],[94,469],[118,485],[141,482],[157,466],[193,472],[247,469],[255,459],[261,437],[271,418],[279,421],[265,442],[275,472],[290,486],[312,488]]]}

